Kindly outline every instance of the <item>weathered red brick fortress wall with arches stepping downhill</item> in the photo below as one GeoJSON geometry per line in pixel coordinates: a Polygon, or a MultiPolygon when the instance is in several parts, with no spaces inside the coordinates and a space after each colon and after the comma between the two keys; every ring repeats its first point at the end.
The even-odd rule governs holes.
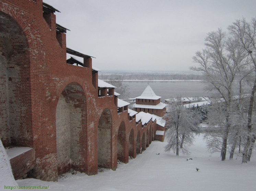
{"type": "Polygon", "coordinates": [[[142,127],[126,110],[118,114],[113,92],[98,97],[91,58],[85,67],[66,63],[66,35],[56,36],[42,0],[0,0],[0,24],[0,138],[5,147],[33,148],[31,176],[115,170],[117,159],[127,163],[154,140],[155,122],[142,127]]]}

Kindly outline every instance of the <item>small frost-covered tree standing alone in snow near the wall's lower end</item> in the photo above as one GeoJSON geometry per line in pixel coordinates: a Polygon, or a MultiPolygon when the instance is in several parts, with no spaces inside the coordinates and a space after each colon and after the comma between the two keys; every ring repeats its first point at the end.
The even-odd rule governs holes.
{"type": "Polygon", "coordinates": [[[166,138],[168,144],[165,151],[171,149],[179,155],[179,150],[188,154],[188,147],[193,144],[195,133],[199,133],[198,124],[201,121],[201,115],[198,110],[186,108],[181,98],[171,98],[167,105],[167,113],[164,115],[166,120],[166,138]]]}

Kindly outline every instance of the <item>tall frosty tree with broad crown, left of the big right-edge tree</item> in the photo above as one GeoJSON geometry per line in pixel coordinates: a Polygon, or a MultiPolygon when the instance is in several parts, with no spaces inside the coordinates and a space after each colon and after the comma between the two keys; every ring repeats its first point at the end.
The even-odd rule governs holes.
{"type": "Polygon", "coordinates": [[[205,41],[206,48],[196,52],[196,56],[193,57],[194,62],[199,66],[190,69],[202,71],[207,90],[218,92],[223,99],[221,160],[224,161],[228,136],[232,128],[231,115],[234,90],[237,89],[236,77],[246,67],[247,54],[241,46],[238,46],[236,37],[226,35],[221,29],[208,33],[205,41]]]}

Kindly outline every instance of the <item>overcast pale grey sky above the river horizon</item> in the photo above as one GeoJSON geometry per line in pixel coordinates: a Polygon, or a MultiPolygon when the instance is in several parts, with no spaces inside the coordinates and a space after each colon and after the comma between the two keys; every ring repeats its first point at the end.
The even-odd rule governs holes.
{"type": "Polygon", "coordinates": [[[67,47],[101,69],[189,70],[208,32],[256,16],[256,0],[44,0],[67,47]]]}

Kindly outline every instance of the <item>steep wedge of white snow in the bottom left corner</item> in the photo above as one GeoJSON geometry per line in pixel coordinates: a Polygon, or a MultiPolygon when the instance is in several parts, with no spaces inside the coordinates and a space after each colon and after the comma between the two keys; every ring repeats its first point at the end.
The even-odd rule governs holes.
{"type": "Polygon", "coordinates": [[[4,186],[17,185],[12,175],[10,161],[0,139],[0,188],[3,189],[4,186]]]}

